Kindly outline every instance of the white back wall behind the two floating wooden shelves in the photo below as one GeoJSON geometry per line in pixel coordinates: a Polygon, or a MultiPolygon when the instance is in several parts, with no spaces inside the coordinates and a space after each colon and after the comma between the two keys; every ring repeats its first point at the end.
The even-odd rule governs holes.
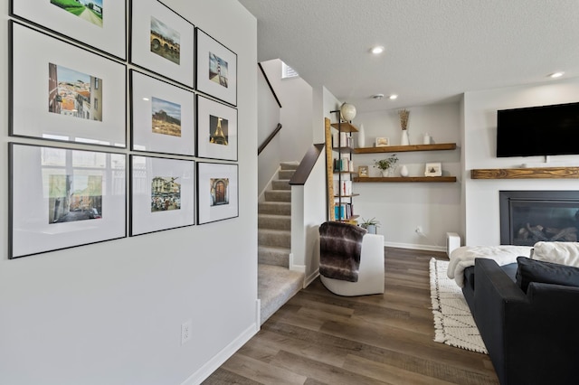
{"type": "MultiPolygon", "coordinates": [[[[408,108],[410,144],[422,144],[429,133],[433,143],[460,146],[460,105],[458,103],[408,108]]],[[[400,144],[401,128],[397,110],[358,113],[353,123],[364,125],[365,146],[374,146],[376,136],[400,144]]],[[[370,176],[379,176],[374,160],[384,154],[354,155],[354,166],[368,165],[370,176]]],[[[414,249],[443,249],[446,232],[460,230],[460,149],[453,151],[396,153],[398,166],[406,164],[410,176],[423,176],[426,163],[441,162],[443,175],[457,176],[457,183],[354,183],[360,196],[354,198],[355,213],[381,221],[378,233],[388,246],[414,249]],[[421,226],[425,236],[414,230],[421,226]]],[[[362,219],[360,218],[360,220],[362,219]]]]}

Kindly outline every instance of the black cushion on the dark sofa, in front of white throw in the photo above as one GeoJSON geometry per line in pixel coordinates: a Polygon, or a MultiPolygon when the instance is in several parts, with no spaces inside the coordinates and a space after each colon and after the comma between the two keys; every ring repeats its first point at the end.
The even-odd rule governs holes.
{"type": "Polygon", "coordinates": [[[517,265],[517,285],[525,293],[531,282],[579,286],[579,268],[527,257],[518,257],[517,265]]]}

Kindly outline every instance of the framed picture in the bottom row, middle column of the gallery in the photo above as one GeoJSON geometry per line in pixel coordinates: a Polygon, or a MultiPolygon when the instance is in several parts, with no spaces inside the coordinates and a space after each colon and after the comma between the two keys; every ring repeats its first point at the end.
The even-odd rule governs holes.
{"type": "Polygon", "coordinates": [[[195,224],[195,162],[131,155],[130,235],[195,224]]]}

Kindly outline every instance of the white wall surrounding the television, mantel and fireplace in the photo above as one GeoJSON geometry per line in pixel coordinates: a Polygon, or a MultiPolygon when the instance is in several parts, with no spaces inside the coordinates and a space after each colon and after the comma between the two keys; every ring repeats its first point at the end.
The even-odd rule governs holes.
{"type": "MultiPolygon", "coordinates": [[[[512,168],[541,163],[543,156],[496,157],[497,110],[576,102],[579,79],[559,80],[532,86],[489,89],[464,95],[464,211],[467,245],[498,245],[498,192],[500,190],[579,190],[574,179],[473,180],[476,168],[512,168]]],[[[576,162],[579,155],[551,156],[551,162],[576,162]]],[[[548,164],[546,164],[547,166],[548,164]]]]}

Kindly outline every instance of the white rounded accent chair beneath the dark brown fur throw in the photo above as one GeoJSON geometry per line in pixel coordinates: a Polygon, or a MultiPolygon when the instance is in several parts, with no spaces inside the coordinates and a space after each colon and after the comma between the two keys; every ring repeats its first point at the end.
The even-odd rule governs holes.
{"type": "Polygon", "coordinates": [[[362,239],[358,281],[319,276],[322,284],[338,296],[365,296],[384,293],[384,236],[365,234],[362,239]]]}

